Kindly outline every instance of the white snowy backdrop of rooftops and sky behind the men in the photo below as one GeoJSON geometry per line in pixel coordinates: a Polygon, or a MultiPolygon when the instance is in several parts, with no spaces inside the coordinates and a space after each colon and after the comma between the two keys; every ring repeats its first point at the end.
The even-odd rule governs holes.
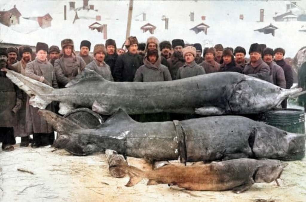
{"type": "MultiPolygon", "coordinates": [[[[0,10],[8,10],[16,5],[23,17],[37,17],[49,13],[52,26],[46,29],[31,25],[30,20],[21,20],[20,25],[6,27],[0,25],[0,41],[2,43],[17,43],[36,45],[38,41],[51,45],[60,46],[64,38],[74,40],[76,49],[81,40],[90,40],[92,44],[105,43],[103,34],[96,30],[92,31],[88,26],[95,22],[95,16],[101,15],[100,24],[107,24],[108,38],[115,39],[117,46],[125,41],[126,25],[129,1],[89,1],[89,5],[95,5],[95,11],[82,10],[78,12],[81,18],[73,24],[75,11],[69,11],[69,1],[14,1],[0,2],[0,10]],[[67,21],[64,21],[64,5],[67,6],[67,21]],[[91,19],[90,19],[91,18],[91,19]],[[20,28],[18,28],[20,27],[20,28]],[[26,31],[24,31],[24,29],[26,31]]],[[[75,1],[75,7],[81,7],[83,1],[75,1]]],[[[300,47],[305,46],[306,22],[275,22],[272,18],[275,13],[286,12],[286,4],[289,1],[134,1],[131,36],[137,36],[139,42],[145,42],[147,37],[152,36],[149,32],[143,33],[140,27],[151,23],[157,28],[153,36],[160,41],[182,38],[185,43],[201,43],[203,47],[210,47],[222,43],[224,47],[243,46],[248,52],[251,43],[266,43],[267,47],[283,47],[286,57],[294,57],[300,47]],[[264,9],[264,22],[259,21],[259,10],[264,9]],[[142,21],[140,13],[145,12],[147,21],[142,21]],[[190,12],[194,12],[195,21],[190,21],[190,12]],[[244,15],[244,20],[239,20],[239,15],[244,15]],[[169,18],[169,29],[165,30],[165,21],[162,16],[169,18]],[[206,16],[202,21],[201,16],[206,16]],[[137,21],[138,20],[138,21],[137,21]],[[209,25],[207,35],[204,32],[195,34],[189,30],[197,24],[204,22],[209,25]],[[278,29],[275,37],[271,34],[254,32],[255,29],[263,28],[272,23],[278,29]]],[[[37,23],[38,24],[38,23],[37,23]]]]}

